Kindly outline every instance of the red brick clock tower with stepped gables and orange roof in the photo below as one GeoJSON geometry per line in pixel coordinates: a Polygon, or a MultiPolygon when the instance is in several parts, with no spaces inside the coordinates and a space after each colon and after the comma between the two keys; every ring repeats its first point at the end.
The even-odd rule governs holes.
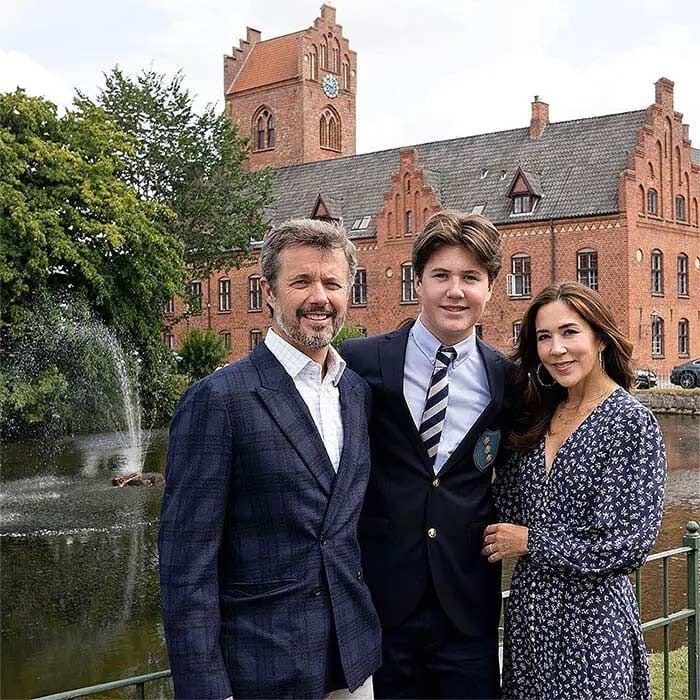
{"type": "Polygon", "coordinates": [[[226,114],[250,138],[250,167],[298,165],[355,154],[357,54],[335,8],[308,29],[262,41],[248,27],[224,56],[226,114]]]}

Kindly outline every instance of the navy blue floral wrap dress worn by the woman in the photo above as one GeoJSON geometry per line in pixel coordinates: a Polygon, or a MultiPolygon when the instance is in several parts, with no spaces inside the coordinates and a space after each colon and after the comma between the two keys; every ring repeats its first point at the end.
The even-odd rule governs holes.
{"type": "Polygon", "coordinates": [[[529,528],[506,609],[503,697],[651,698],[628,574],[651,550],[666,481],[654,416],[616,389],[545,471],[544,440],[494,483],[501,521],[529,528]]]}

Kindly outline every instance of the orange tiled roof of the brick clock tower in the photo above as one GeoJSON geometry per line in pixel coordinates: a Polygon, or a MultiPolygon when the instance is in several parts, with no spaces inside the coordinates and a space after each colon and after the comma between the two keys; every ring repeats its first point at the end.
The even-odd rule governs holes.
{"type": "Polygon", "coordinates": [[[228,94],[296,78],[300,34],[301,32],[286,34],[255,44],[228,94]]]}

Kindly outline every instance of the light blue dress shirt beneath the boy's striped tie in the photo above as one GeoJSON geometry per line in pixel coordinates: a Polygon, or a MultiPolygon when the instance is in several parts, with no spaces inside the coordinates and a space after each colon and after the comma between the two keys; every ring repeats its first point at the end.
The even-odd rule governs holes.
{"type": "MultiPolygon", "coordinates": [[[[408,337],[403,368],[403,395],[417,429],[420,428],[433,376],[435,355],[441,345],[422,324],[419,316],[408,337]]],[[[453,347],[457,357],[447,370],[450,390],[445,425],[435,457],[436,474],[491,402],[489,380],[481,353],[476,347],[476,335],[472,332],[453,347]]]]}

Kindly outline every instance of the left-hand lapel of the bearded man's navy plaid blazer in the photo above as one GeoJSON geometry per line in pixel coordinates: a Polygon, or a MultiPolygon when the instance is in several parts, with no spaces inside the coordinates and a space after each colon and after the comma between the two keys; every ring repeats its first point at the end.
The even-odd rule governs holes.
{"type": "Polygon", "coordinates": [[[261,386],[256,389],[258,396],[323,492],[330,496],[335,470],[292,378],[264,343],[255,348],[250,359],[260,375],[261,386]]]}

